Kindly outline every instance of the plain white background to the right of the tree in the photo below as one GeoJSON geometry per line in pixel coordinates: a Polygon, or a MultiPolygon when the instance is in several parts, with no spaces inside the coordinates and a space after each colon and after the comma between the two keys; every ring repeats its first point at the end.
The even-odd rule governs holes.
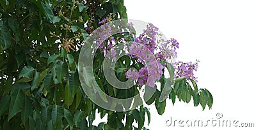
{"type": "MultiPolygon", "coordinates": [[[[256,1],[125,0],[128,18],[150,22],[180,43],[179,61],[200,60],[198,87],[212,92],[214,104],[166,103],[163,115],[150,107],[149,129],[255,129],[256,127],[256,1]],[[166,120],[222,120],[253,122],[246,127],[166,126],[166,120]]],[[[147,119],[145,121],[147,125],[147,119]]],[[[177,125],[177,124],[176,124],[177,125]]]]}

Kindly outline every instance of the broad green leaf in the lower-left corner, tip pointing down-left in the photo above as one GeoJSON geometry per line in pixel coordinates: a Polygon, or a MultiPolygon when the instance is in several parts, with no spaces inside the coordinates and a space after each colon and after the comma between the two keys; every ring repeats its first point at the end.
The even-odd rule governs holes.
{"type": "Polygon", "coordinates": [[[22,106],[23,92],[20,89],[13,90],[11,95],[11,104],[9,109],[8,121],[20,112],[22,106]]]}

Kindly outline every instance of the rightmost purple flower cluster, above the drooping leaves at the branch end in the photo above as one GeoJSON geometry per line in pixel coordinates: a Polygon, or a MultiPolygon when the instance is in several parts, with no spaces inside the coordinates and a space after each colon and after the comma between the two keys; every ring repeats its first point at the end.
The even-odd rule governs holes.
{"type": "Polygon", "coordinates": [[[173,67],[175,68],[175,74],[177,77],[186,76],[187,80],[193,79],[197,82],[193,71],[197,71],[198,69],[198,62],[175,62],[173,63],[173,67]]]}

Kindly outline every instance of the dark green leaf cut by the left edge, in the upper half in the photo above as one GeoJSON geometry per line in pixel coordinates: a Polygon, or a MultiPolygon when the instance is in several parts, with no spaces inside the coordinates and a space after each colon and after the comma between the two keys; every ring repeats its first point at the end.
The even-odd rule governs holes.
{"type": "Polygon", "coordinates": [[[6,50],[12,44],[10,32],[5,25],[2,25],[2,27],[0,28],[0,42],[3,50],[6,50]]]}

